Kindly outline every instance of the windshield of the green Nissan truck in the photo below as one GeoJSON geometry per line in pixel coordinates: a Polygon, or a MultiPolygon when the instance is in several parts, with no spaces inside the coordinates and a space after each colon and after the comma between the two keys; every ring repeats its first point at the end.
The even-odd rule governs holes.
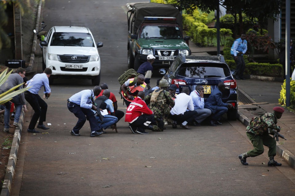
{"type": "Polygon", "coordinates": [[[140,38],[152,39],[182,39],[179,27],[173,26],[144,26],[140,38]]]}

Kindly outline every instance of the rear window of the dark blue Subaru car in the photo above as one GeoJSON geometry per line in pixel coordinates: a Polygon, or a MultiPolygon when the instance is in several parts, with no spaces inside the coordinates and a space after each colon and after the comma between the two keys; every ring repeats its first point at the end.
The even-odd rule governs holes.
{"type": "Polygon", "coordinates": [[[190,78],[222,78],[230,76],[230,70],[222,63],[183,63],[178,75],[190,78]]]}

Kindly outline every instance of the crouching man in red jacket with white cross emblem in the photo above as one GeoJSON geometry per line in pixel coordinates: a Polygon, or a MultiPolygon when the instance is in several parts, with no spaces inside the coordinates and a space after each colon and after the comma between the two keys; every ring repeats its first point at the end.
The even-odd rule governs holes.
{"type": "Polygon", "coordinates": [[[144,92],[138,92],[137,97],[127,108],[125,122],[129,123],[132,133],[148,134],[144,130],[150,128],[149,126],[151,126],[150,123],[153,119],[153,111],[144,102],[144,92]]]}

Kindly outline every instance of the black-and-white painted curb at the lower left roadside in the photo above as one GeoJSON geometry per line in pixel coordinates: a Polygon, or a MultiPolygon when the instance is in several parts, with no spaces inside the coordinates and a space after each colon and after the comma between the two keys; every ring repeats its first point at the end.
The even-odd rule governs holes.
{"type": "Polygon", "coordinates": [[[21,116],[19,117],[19,123],[21,124],[20,128],[15,128],[14,137],[12,140],[9,160],[7,163],[6,174],[4,177],[2,190],[0,196],[9,196],[11,192],[12,180],[15,174],[15,167],[17,162],[18,147],[21,141],[22,126],[24,122],[24,111],[22,111],[21,116]]]}

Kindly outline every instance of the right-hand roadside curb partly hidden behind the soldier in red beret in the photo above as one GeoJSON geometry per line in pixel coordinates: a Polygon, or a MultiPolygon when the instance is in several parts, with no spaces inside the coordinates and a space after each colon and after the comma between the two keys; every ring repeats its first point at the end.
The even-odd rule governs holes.
{"type": "MultiPolygon", "coordinates": [[[[248,119],[242,112],[238,111],[238,119],[243,125],[248,126],[250,119],[248,119]]],[[[295,156],[282,145],[277,142],[277,154],[280,155],[287,163],[295,169],[295,156]]],[[[1,195],[0,195],[1,196],[1,195]]]]}

